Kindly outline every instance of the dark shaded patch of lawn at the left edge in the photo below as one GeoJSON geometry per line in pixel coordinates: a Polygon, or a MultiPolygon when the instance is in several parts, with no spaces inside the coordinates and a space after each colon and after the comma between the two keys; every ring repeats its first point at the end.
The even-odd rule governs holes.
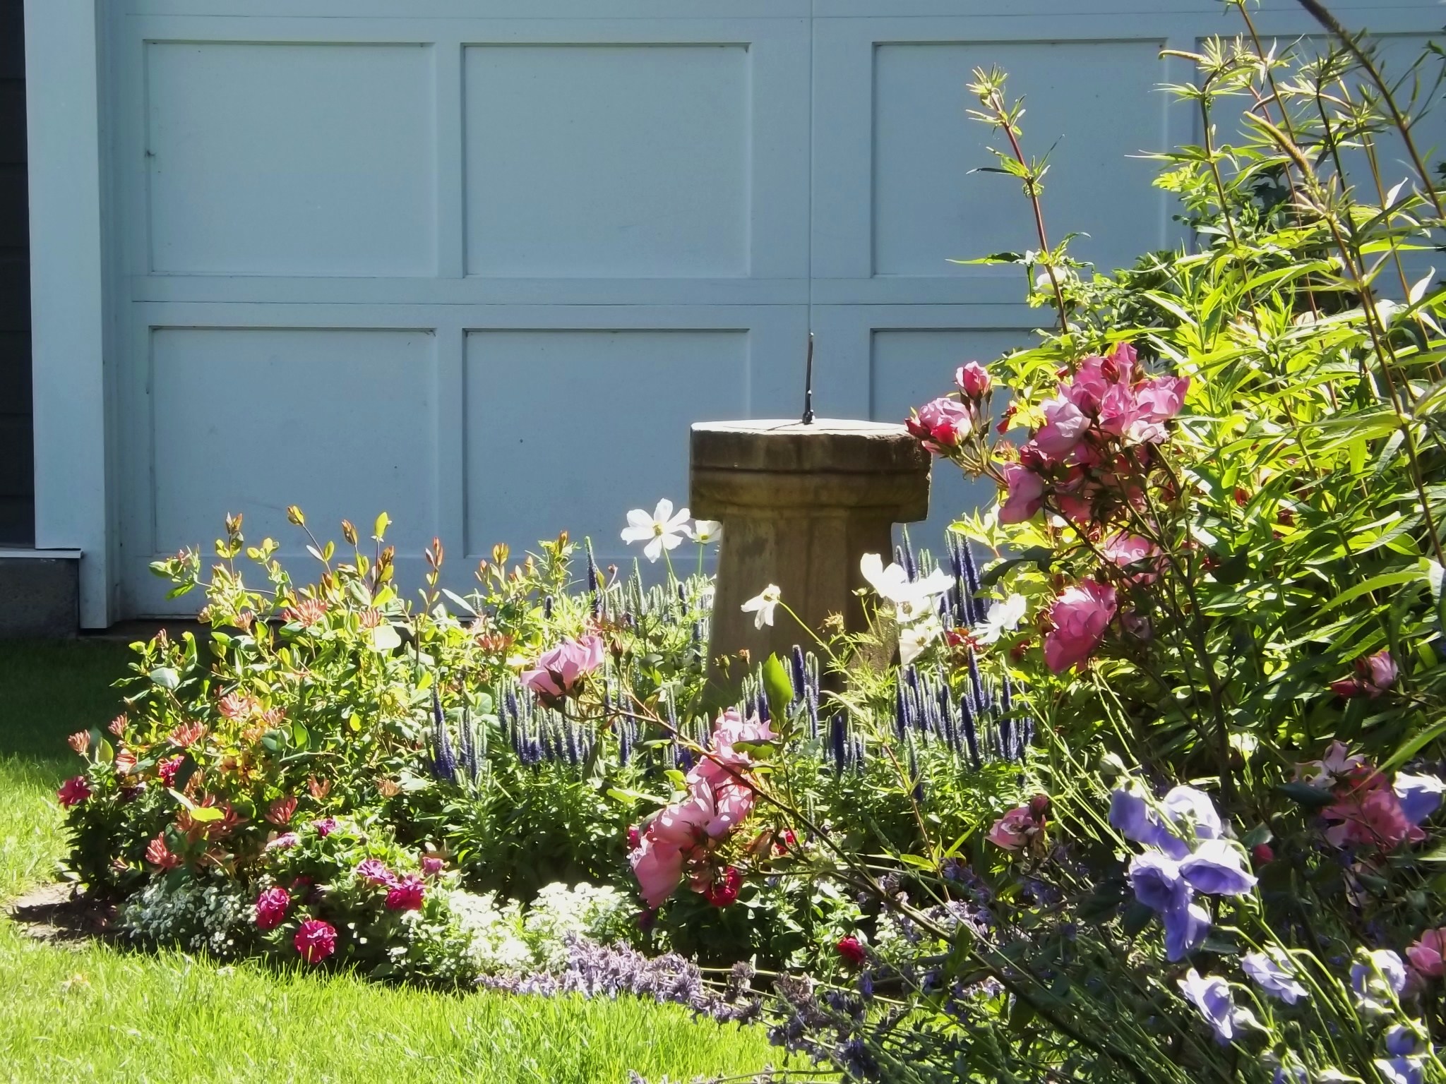
{"type": "Polygon", "coordinates": [[[104,727],[120,713],[111,685],[132,658],[114,640],[0,642],[0,756],[68,759],[68,734],[104,727]]]}

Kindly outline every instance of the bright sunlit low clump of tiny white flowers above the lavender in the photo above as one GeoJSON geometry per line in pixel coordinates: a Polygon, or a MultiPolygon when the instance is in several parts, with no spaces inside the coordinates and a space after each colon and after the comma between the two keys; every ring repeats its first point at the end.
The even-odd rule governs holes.
{"type": "Polygon", "coordinates": [[[499,906],[495,892],[479,896],[458,890],[447,903],[471,938],[471,958],[483,974],[561,970],[570,939],[617,941],[636,911],[616,889],[562,883],[544,887],[525,911],[515,900],[499,906]]]}

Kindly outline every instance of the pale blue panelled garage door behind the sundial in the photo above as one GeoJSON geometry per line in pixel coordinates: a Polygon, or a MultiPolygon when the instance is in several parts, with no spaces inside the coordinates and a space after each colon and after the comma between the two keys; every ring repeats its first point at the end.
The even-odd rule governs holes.
{"type": "MultiPolygon", "coordinates": [[[[810,330],[821,412],[901,419],[1040,321],[947,263],[1031,246],[967,175],[970,68],[1064,134],[1051,221],[1109,264],[1176,238],[1129,155],[1192,136],[1158,52],[1218,32],[1202,0],[116,4],[123,614],[189,608],[147,565],[227,512],[294,543],[289,503],[386,509],[403,574],[434,535],[461,575],[561,528],[622,559],[690,422],[798,410],[810,330]]],[[[941,480],[925,539],[977,497],[941,480]]]]}

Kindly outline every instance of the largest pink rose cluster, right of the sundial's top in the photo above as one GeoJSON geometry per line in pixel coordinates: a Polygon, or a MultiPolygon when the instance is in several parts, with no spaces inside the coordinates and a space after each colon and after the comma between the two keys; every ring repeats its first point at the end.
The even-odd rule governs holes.
{"type": "Polygon", "coordinates": [[[1043,403],[1044,425],[1004,468],[1008,496],[1001,523],[1022,523],[1053,497],[1077,523],[1098,522],[1100,504],[1134,499],[1137,460],[1165,439],[1165,422],[1180,413],[1189,377],[1147,379],[1128,343],[1109,357],[1086,357],[1058,396],[1043,403]]]}

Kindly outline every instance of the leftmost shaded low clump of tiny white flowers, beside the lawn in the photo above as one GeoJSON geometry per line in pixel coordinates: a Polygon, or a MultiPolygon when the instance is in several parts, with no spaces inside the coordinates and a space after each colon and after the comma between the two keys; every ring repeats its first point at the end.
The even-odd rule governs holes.
{"type": "Polygon", "coordinates": [[[120,928],[133,941],[231,957],[244,951],[253,912],[234,885],[191,880],[171,889],[158,879],[126,900],[120,928]]]}

